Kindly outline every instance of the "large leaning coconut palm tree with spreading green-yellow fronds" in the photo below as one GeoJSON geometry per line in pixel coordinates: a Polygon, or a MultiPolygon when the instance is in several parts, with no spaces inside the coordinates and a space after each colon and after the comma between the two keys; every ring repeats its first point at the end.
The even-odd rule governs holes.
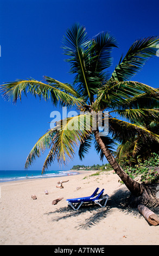
{"type": "MultiPolygon", "coordinates": [[[[135,124],[141,117],[151,120],[158,118],[159,90],[130,80],[145,62],[156,54],[158,42],[158,36],[135,41],[125,57],[120,58],[110,76],[107,68],[112,64],[111,51],[113,47],[117,47],[116,39],[105,32],[88,39],[85,27],[75,24],[63,37],[63,50],[68,56],[70,72],[75,74],[72,85],[47,76],[44,76],[44,82],[31,78],[4,84],[2,91],[6,100],[12,98],[16,102],[18,98],[21,99],[22,92],[30,92],[34,96],[52,101],[55,105],[60,102],[61,106],[73,106],[82,112],[75,117],[60,120],[55,127],[47,131],[30,151],[25,168],[48,148],[49,153],[42,172],[55,159],[66,164],[73,158],[77,147],[82,159],[94,141],[100,157],[106,157],[133,196],[146,197],[147,200],[145,187],[124,172],[111,150],[115,140],[124,143],[135,135],[147,141],[159,139],[155,133],[135,124]],[[92,113],[104,113],[105,110],[109,111],[109,135],[101,136],[99,127],[93,129],[92,113]],[[87,122],[88,117],[90,123],[87,122]]],[[[103,124],[106,118],[103,114],[103,124]]],[[[97,115],[96,120],[98,119],[97,115]]],[[[159,203],[158,199],[155,199],[155,204],[156,202],[159,203]]]]}

